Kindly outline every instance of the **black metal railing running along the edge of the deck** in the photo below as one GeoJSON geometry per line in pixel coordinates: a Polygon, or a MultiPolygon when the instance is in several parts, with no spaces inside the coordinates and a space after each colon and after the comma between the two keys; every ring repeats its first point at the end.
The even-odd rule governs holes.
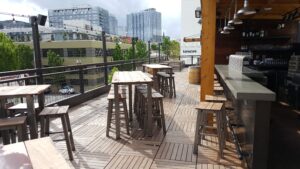
{"type": "MultiPolygon", "coordinates": [[[[158,63],[158,58],[151,58],[150,60],[151,63],[158,63]]],[[[45,104],[59,104],[67,99],[78,96],[80,98],[87,93],[108,87],[110,85],[108,76],[112,74],[111,70],[114,67],[120,71],[142,70],[142,64],[148,62],[149,59],[145,58],[0,72],[0,77],[2,77],[0,86],[35,85],[39,84],[38,79],[42,78],[44,84],[51,85],[51,88],[45,92],[45,104]]],[[[12,101],[21,102],[21,99],[13,99],[12,101]]],[[[86,100],[80,99],[80,101],[86,100]]]]}

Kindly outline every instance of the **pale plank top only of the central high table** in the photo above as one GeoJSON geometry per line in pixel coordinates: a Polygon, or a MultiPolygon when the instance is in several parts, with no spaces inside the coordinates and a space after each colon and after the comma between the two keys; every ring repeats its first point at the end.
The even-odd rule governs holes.
{"type": "Polygon", "coordinates": [[[152,83],[153,80],[142,71],[118,71],[112,78],[112,84],[152,83]]]}

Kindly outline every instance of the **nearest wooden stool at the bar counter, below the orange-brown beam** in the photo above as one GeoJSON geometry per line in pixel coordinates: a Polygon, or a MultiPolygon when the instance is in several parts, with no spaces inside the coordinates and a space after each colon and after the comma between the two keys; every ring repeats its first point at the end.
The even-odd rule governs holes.
{"type": "Polygon", "coordinates": [[[223,110],[223,103],[213,103],[213,102],[201,102],[198,107],[196,107],[197,113],[197,123],[195,131],[194,140],[194,154],[198,154],[198,145],[201,144],[202,136],[208,135],[204,133],[204,129],[207,128],[207,114],[213,113],[216,115],[217,123],[217,137],[219,142],[219,154],[223,157],[223,149],[225,147],[225,127],[224,122],[225,113],[223,110]]]}

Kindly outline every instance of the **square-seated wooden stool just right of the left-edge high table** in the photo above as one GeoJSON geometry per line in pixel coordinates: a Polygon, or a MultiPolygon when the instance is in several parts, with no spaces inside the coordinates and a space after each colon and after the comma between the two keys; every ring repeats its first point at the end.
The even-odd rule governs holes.
{"type": "MultiPolygon", "coordinates": [[[[73,140],[73,134],[68,114],[69,106],[55,106],[55,107],[45,107],[40,113],[41,121],[41,137],[49,136],[50,134],[62,133],[62,132],[51,132],[50,133],[50,118],[61,118],[61,123],[63,127],[64,140],[66,140],[67,150],[69,154],[69,159],[73,160],[72,151],[75,151],[75,144],[73,140]]],[[[54,140],[60,141],[60,140],[54,140]]]]}

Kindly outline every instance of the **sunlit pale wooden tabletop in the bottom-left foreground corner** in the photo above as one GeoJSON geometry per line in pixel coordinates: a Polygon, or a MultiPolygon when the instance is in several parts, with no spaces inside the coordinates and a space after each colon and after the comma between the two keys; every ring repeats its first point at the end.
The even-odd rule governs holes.
{"type": "Polygon", "coordinates": [[[54,147],[49,137],[0,145],[1,169],[70,169],[64,157],[54,147]]]}

